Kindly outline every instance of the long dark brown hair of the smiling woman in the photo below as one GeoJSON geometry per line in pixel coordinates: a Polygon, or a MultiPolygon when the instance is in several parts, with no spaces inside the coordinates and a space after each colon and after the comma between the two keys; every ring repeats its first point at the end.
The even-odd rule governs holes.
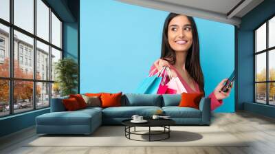
{"type": "MultiPolygon", "coordinates": [[[[160,58],[168,61],[171,65],[175,65],[176,62],[176,54],[175,51],[170,47],[168,43],[168,25],[170,21],[181,14],[170,13],[164,22],[164,28],[162,32],[162,53],[160,58]]],[[[185,67],[188,74],[191,76],[193,80],[199,85],[199,90],[204,93],[204,80],[203,73],[201,70],[201,63],[199,61],[199,36],[197,32],[197,26],[192,17],[188,17],[188,20],[191,23],[192,28],[192,45],[188,50],[188,54],[186,56],[185,67]]]]}

